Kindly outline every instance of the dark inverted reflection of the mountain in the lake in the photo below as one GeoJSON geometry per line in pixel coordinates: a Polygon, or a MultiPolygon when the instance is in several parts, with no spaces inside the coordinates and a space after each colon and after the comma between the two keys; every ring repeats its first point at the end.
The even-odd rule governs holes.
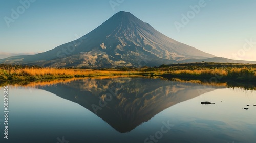
{"type": "Polygon", "coordinates": [[[193,83],[127,77],[83,79],[40,88],[78,103],[93,113],[92,105],[100,107],[99,101],[103,99],[106,105],[97,110],[97,116],[121,133],[133,130],[170,106],[215,90],[193,83]],[[108,101],[106,95],[110,93],[114,96],[108,101]]]}

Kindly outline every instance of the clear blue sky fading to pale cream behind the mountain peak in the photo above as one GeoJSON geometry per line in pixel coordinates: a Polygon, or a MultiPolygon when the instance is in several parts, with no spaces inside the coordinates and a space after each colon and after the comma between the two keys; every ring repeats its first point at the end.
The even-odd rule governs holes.
{"type": "MultiPolygon", "coordinates": [[[[29,0],[21,0],[25,1],[29,0]]],[[[204,52],[256,61],[255,0],[205,0],[204,7],[190,15],[180,31],[174,23],[182,23],[182,14],[187,15],[190,6],[203,0],[112,0],[118,3],[115,7],[109,0],[33,1],[25,8],[18,0],[0,0],[0,58],[51,50],[87,34],[123,10],[204,52]],[[21,14],[13,19],[12,9],[21,14]],[[252,42],[247,44],[245,39],[252,42]]]]}

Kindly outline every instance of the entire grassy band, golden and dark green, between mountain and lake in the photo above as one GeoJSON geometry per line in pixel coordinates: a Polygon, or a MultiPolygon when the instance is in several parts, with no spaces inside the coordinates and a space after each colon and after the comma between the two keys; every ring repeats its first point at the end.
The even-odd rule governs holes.
{"type": "Polygon", "coordinates": [[[161,76],[167,79],[200,79],[207,82],[256,82],[256,65],[233,63],[189,63],[159,67],[122,67],[111,69],[41,68],[36,66],[0,65],[0,81],[35,81],[53,78],[79,78],[112,75],[161,76]]]}

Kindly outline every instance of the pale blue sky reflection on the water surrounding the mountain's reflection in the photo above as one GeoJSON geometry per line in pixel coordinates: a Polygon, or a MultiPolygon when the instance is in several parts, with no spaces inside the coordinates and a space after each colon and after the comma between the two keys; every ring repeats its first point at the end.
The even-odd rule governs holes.
{"type": "MultiPolygon", "coordinates": [[[[174,127],[163,134],[159,142],[256,140],[255,91],[216,89],[169,107],[131,132],[121,134],[91,111],[53,93],[40,89],[9,89],[9,142],[57,142],[56,138],[62,136],[70,143],[144,142],[168,120],[174,127]],[[202,105],[202,101],[215,104],[202,105]],[[243,109],[246,107],[249,110],[243,109]]],[[[0,99],[3,101],[3,96],[0,99]]],[[[0,106],[3,113],[3,102],[0,106]]],[[[0,141],[6,140],[1,138],[0,141]]]]}

